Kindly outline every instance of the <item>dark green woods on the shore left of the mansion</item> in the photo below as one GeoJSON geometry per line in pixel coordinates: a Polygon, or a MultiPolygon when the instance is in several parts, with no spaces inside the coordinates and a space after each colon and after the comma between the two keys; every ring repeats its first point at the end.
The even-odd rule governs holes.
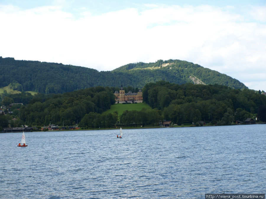
{"type": "Polygon", "coordinates": [[[21,125],[43,126],[56,124],[72,126],[79,123],[82,118],[90,113],[101,114],[110,109],[115,103],[113,89],[109,87],[92,87],[63,94],[37,94],[20,93],[5,96],[1,105],[8,107],[10,103],[17,104],[6,110],[12,111],[15,118],[10,120],[10,115],[0,116],[0,126],[12,127],[21,125]],[[19,108],[19,110],[18,110],[19,108]]]}

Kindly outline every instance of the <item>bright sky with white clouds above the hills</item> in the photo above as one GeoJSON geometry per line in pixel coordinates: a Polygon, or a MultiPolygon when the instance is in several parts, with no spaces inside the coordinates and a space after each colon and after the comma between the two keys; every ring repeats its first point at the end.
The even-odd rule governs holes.
{"type": "Polygon", "coordinates": [[[0,56],[108,71],[178,59],[266,91],[266,0],[0,0],[0,56]]]}

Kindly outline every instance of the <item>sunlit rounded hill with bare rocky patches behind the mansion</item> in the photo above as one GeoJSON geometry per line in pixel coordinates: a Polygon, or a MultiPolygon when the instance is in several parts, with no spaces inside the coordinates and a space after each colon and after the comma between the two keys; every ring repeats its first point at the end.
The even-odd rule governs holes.
{"type": "MultiPolygon", "coordinates": [[[[113,70],[114,72],[127,72],[127,73],[137,73],[136,71],[141,71],[145,73],[146,70],[154,71],[153,73],[167,73],[169,75],[170,83],[184,84],[193,82],[194,84],[218,84],[226,85],[235,89],[245,89],[247,88],[239,80],[231,78],[226,74],[219,73],[215,70],[210,70],[209,68],[204,68],[198,64],[192,62],[181,61],[181,60],[158,60],[155,63],[130,63],[113,70]],[[174,77],[174,80],[171,79],[174,77]]],[[[147,82],[148,83],[148,82],[147,82]]]]}

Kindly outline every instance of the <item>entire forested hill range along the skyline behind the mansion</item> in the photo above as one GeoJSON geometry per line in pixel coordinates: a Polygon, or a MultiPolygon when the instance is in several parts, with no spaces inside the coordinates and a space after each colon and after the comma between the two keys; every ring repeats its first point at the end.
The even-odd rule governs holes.
{"type": "Polygon", "coordinates": [[[95,86],[132,86],[165,80],[170,83],[203,83],[247,88],[225,74],[181,60],[158,60],[155,63],[132,63],[113,71],[98,71],[73,65],[0,57],[0,87],[40,93],[64,93],[95,86]]]}

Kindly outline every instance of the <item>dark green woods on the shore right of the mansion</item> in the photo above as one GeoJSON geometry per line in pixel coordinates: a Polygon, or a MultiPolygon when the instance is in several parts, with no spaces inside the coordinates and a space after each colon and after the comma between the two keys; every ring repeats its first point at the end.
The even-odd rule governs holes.
{"type": "Polygon", "coordinates": [[[177,85],[160,81],[146,84],[142,91],[143,100],[161,110],[163,119],[179,125],[184,121],[229,125],[254,115],[266,121],[266,96],[249,89],[241,91],[217,84],[177,85]]]}

